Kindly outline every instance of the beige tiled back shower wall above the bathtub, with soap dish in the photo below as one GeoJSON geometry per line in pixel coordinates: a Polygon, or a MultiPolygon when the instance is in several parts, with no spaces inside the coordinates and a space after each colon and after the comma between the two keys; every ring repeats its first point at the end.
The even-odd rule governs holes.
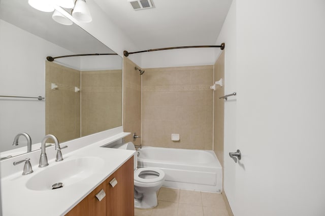
{"type": "Polygon", "coordinates": [[[145,69],[142,144],[212,150],[212,83],[213,65],[145,69]]]}

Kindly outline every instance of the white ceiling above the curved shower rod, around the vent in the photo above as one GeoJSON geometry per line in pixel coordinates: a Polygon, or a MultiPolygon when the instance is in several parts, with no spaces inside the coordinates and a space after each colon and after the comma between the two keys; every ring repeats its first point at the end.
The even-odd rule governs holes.
{"type": "Polygon", "coordinates": [[[127,0],[94,2],[140,50],[148,50],[215,45],[232,0],[152,0],[154,8],[138,11],[127,0]]]}

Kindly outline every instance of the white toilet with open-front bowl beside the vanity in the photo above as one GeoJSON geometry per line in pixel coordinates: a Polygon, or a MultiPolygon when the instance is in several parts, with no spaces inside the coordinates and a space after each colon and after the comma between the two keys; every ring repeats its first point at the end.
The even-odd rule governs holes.
{"type": "MultiPolygon", "coordinates": [[[[117,147],[136,150],[132,142],[117,147]]],[[[154,167],[137,168],[137,152],[134,153],[134,206],[136,208],[153,208],[158,205],[156,192],[163,186],[165,172],[154,167]]]]}

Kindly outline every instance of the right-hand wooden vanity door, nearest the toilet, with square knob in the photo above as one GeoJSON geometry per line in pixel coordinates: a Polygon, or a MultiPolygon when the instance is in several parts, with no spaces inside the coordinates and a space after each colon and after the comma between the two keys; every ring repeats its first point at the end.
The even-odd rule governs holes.
{"type": "Polygon", "coordinates": [[[133,157],[128,159],[106,180],[106,215],[134,215],[134,168],[133,157]],[[110,182],[116,179],[112,187],[110,182]]]}

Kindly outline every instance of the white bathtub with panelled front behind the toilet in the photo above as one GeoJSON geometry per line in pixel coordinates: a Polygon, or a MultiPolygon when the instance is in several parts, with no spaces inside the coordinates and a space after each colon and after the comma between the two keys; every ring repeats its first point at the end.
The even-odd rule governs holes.
{"type": "Polygon", "coordinates": [[[213,151],[144,146],[138,152],[138,167],[165,171],[165,187],[221,192],[222,167],[213,151]]]}

